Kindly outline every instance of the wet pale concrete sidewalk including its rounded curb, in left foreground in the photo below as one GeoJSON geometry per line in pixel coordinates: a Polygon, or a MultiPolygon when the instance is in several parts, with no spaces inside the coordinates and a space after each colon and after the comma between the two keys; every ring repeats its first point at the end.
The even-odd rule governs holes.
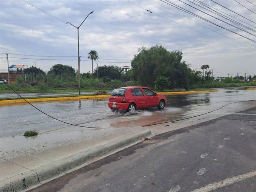
{"type": "Polygon", "coordinates": [[[31,189],[141,142],[147,128],[52,131],[35,137],[0,139],[0,192],[31,189]]]}

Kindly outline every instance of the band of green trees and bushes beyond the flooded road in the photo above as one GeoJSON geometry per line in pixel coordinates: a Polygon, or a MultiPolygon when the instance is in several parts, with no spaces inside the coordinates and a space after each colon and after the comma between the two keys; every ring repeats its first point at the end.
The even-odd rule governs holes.
{"type": "MultiPolygon", "coordinates": [[[[97,51],[91,50],[88,58],[98,59],[97,51]]],[[[111,91],[121,86],[148,86],[156,91],[192,90],[202,88],[256,86],[254,77],[214,78],[209,65],[201,66],[202,71],[192,70],[182,60],[182,51],[168,51],[163,46],[142,47],[134,55],[131,69],[126,71],[118,66],[99,66],[93,74],[81,73],[81,91],[111,91]],[[247,81],[249,79],[249,81],[247,81]]],[[[45,73],[40,68],[30,67],[24,74],[9,84],[19,93],[77,92],[78,71],[72,66],[55,64],[45,73]]],[[[0,93],[13,93],[5,84],[0,84],[0,93]]],[[[74,95],[72,95],[74,96],[74,95]]]]}

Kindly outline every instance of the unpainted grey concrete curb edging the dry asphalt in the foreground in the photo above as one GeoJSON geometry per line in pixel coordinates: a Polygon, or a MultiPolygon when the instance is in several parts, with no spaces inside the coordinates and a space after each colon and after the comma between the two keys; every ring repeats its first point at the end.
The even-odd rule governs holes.
{"type": "Polygon", "coordinates": [[[143,141],[145,138],[151,138],[153,136],[154,134],[149,129],[141,130],[126,137],[122,137],[114,142],[95,146],[94,148],[73,154],[34,170],[29,170],[22,174],[4,179],[0,183],[0,192],[31,190],[38,185],[61,177],[66,174],[66,172],[82,168],[110,154],[114,154],[124,148],[133,146],[143,141]]]}

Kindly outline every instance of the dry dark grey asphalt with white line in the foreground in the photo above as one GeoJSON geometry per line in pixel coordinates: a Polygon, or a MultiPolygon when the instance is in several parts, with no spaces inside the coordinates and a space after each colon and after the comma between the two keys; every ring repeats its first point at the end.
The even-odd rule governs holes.
{"type": "Polygon", "coordinates": [[[256,107],[158,135],[31,191],[193,190],[256,191],[256,107]]]}

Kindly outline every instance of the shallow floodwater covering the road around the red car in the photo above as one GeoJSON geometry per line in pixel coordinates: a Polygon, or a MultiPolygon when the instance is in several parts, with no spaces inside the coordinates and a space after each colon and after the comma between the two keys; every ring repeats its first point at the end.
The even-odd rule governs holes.
{"type": "MultiPolygon", "coordinates": [[[[208,113],[238,101],[256,99],[256,90],[219,89],[213,93],[166,96],[164,110],[157,107],[125,113],[111,111],[108,100],[75,100],[67,102],[34,102],[44,113],[69,124],[92,127],[146,126],[208,113]]],[[[229,107],[228,105],[226,107],[229,107]]],[[[40,133],[70,126],[57,121],[29,104],[0,106],[0,137],[23,135],[27,130],[40,133]]],[[[85,128],[86,129],[86,128],[85,128]]]]}

